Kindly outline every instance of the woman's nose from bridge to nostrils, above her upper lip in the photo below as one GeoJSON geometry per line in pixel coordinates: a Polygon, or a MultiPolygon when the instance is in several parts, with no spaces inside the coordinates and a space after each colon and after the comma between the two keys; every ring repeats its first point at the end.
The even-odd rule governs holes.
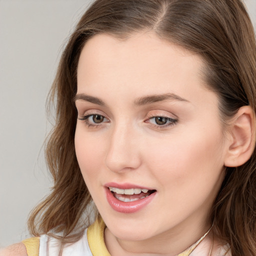
{"type": "Polygon", "coordinates": [[[115,126],[109,136],[105,164],[113,172],[134,170],[141,164],[139,134],[128,125],[115,126]]]}

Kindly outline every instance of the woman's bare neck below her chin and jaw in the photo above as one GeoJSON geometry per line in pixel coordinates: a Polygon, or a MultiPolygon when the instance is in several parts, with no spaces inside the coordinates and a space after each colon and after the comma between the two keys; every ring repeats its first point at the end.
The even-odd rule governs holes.
{"type": "MultiPolygon", "coordinates": [[[[148,254],[150,254],[150,256],[174,256],[200,239],[210,227],[209,224],[200,226],[201,228],[198,228],[198,225],[197,228],[189,228],[187,225],[185,228],[173,228],[171,231],[165,231],[154,237],[136,241],[119,239],[106,228],[105,243],[112,256],[145,256],[148,254]]],[[[198,245],[198,247],[200,247],[200,253],[204,253],[202,254],[203,256],[207,255],[206,251],[210,250],[210,245],[211,236],[206,235],[198,245]]],[[[199,254],[196,255],[199,256],[199,254]]]]}

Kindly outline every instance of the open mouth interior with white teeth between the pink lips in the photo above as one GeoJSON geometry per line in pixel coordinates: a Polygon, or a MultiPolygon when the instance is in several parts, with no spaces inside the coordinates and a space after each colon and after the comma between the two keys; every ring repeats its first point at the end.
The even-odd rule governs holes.
{"type": "Polygon", "coordinates": [[[156,192],[155,189],[148,190],[145,188],[120,189],[117,187],[109,186],[108,189],[111,191],[111,193],[116,199],[123,202],[132,202],[140,200],[156,192]]]}

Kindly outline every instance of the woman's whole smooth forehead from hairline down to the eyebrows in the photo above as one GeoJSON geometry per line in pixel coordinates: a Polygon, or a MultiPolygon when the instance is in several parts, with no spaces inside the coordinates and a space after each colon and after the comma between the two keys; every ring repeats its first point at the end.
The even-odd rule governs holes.
{"type": "Polygon", "coordinates": [[[81,51],[77,92],[98,95],[115,91],[131,97],[175,93],[191,97],[197,90],[206,90],[203,66],[198,54],[159,39],[152,32],[133,34],[125,40],[97,34],[81,51]]]}

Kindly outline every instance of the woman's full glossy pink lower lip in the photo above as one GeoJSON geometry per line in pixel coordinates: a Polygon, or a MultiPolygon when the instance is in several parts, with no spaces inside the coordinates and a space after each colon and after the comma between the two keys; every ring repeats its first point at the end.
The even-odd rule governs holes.
{"type": "Polygon", "coordinates": [[[145,198],[138,199],[132,202],[123,202],[114,197],[112,192],[106,187],[106,199],[112,209],[122,213],[133,213],[139,211],[143,207],[145,207],[148,203],[152,201],[156,192],[151,193],[145,198]]]}

